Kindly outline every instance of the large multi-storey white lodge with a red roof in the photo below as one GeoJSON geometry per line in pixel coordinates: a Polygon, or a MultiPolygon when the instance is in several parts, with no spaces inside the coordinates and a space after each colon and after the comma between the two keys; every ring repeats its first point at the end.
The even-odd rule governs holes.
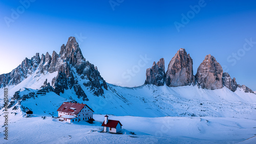
{"type": "Polygon", "coordinates": [[[93,119],[93,110],[87,105],[82,103],[64,102],[57,109],[58,117],[67,122],[88,121],[93,119]],[[66,116],[67,115],[67,116],[66,116]],[[73,117],[68,117],[73,116],[73,117]]]}

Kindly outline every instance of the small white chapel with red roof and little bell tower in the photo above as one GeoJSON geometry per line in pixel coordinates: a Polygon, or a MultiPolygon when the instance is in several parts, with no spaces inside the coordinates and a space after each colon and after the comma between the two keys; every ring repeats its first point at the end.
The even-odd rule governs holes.
{"type": "Polygon", "coordinates": [[[101,125],[104,128],[103,129],[104,132],[117,133],[121,131],[122,124],[119,121],[109,120],[109,116],[105,116],[104,118],[105,120],[101,125]]]}

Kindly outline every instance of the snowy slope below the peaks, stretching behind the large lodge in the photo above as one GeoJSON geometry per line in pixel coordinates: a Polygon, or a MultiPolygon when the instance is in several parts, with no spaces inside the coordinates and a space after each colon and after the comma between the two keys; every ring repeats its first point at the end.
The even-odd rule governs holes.
{"type": "MultiPolygon", "coordinates": [[[[79,99],[74,90],[65,90],[65,93],[60,95],[51,92],[20,103],[22,107],[30,108],[37,114],[51,113],[53,116],[56,116],[56,110],[61,103],[74,100],[86,103],[95,113],[115,116],[210,116],[256,119],[256,95],[245,93],[240,89],[233,93],[227,88],[205,90],[198,89],[196,86],[169,88],[166,85],[162,87],[143,85],[137,88],[123,88],[108,84],[108,88],[108,91],[104,90],[103,96],[97,97],[91,93],[90,89],[82,87],[89,101],[79,99]]],[[[15,87],[14,89],[16,90],[15,87]]],[[[37,90],[22,89],[20,95],[27,95],[34,91],[37,90]]],[[[14,93],[12,89],[10,93],[14,93]]],[[[19,107],[18,102],[10,110],[14,106],[19,107]]],[[[19,113],[20,110],[15,112],[19,113]]]]}

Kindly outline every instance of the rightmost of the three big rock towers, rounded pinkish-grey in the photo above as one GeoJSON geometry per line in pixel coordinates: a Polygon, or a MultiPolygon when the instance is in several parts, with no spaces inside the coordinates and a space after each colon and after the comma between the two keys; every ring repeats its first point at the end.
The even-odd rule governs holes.
{"type": "Polygon", "coordinates": [[[221,89],[223,70],[215,57],[208,54],[197,69],[196,80],[203,89],[221,89]]]}

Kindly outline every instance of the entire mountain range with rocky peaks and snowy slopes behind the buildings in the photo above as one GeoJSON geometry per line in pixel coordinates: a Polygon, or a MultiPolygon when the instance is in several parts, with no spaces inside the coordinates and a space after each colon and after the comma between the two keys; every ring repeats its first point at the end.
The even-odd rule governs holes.
{"type": "MultiPolygon", "coordinates": [[[[61,46],[59,54],[53,51],[52,55],[47,52],[39,57],[36,53],[12,72],[0,75],[0,93],[3,94],[4,89],[8,88],[9,111],[19,116],[26,109],[31,109],[38,116],[56,116],[61,103],[72,101],[87,103],[95,113],[116,116],[256,118],[256,95],[245,85],[237,84],[229,75],[225,74],[224,77],[221,66],[218,65],[218,73],[212,71],[217,66],[214,57],[208,55],[207,61],[200,65],[198,84],[197,77],[191,75],[193,62],[189,54],[184,49],[178,52],[169,64],[168,78],[163,74],[162,60],[157,68],[147,70],[150,76],[146,84],[123,88],[106,83],[97,67],[84,59],[75,38],[70,37],[67,44],[61,46]],[[183,59],[184,55],[186,59],[183,59]],[[182,65],[181,70],[179,65],[182,65]],[[157,72],[161,72],[160,77],[157,72]],[[184,74],[189,77],[188,80],[183,79],[182,83],[172,81],[181,79],[184,74]],[[156,82],[159,79],[162,80],[160,84],[156,82]],[[207,79],[213,79],[215,86],[211,87],[207,79]],[[224,87],[219,87],[219,83],[224,87]],[[182,86],[172,87],[174,84],[182,86]]],[[[3,109],[3,98],[0,105],[3,109]]]]}

